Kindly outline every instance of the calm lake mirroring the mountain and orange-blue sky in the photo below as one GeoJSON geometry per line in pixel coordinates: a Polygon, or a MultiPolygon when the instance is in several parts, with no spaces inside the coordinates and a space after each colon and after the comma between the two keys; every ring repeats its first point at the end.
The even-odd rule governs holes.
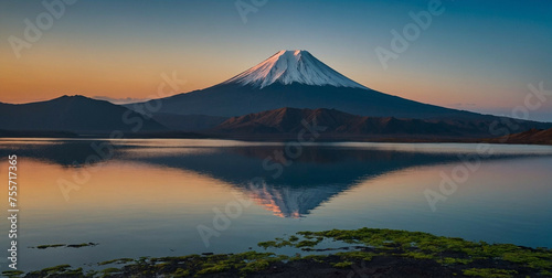
{"type": "Polygon", "coordinates": [[[3,181],[18,156],[22,270],[238,253],[331,228],[552,247],[552,147],[2,139],[0,154],[3,181]],[[30,248],[81,243],[98,245],[30,248]]]}

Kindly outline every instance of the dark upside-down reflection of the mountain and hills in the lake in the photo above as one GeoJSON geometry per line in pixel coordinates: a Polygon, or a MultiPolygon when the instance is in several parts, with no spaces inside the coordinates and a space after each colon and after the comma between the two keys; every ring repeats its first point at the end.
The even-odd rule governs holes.
{"type": "MultiPolygon", "coordinates": [[[[7,156],[14,150],[20,157],[67,168],[117,160],[198,172],[231,184],[280,217],[305,217],[331,197],[375,177],[459,160],[455,152],[336,148],[332,145],[305,146],[297,159],[289,159],[282,156],[285,153],[283,143],[236,142],[213,147],[132,140],[30,141],[14,145],[9,150],[0,149],[0,154],[7,156]],[[284,161],[276,158],[284,158],[284,161]],[[276,170],[277,163],[279,170],[276,170]]],[[[509,157],[512,154],[487,159],[509,157]]]]}

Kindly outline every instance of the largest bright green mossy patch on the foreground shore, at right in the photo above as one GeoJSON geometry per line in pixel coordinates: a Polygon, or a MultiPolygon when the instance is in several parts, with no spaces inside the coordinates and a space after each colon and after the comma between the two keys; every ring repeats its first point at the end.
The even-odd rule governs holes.
{"type": "MultiPolygon", "coordinates": [[[[389,254],[404,256],[413,259],[428,259],[444,266],[467,266],[474,261],[503,260],[513,263],[518,267],[532,268],[541,275],[548,275],[552,270],[552,250],[548,248],[527,248],[513,244],[487,244],[474,243],[458,237],[435,236],[422,232],[407,232],[395,229],[360,228],[360,229],[331,229],[322,232],[298,232],[304,240],[296,239],[276,240],[259,244],[269,248],[293,246],[309,250],[304,247],[315,247],[323,239],[332,239],[346,244],[360,244],[373,248],[370,258],[389,254]]],[[[294,238],[295,239],[295,238],[294,238]]],[[[351,254],[351,256],[365,252],[339,253],[351,254]]],[[[343,260],[346,258],[342,258],[343,260]]],[[[489,268],[490,269],[490,268],[489,268]]],[[[497,275],[502,275],[498,272],[497,275]]],[[[508,275],[508,274],[506,274],[508,275]]]]}

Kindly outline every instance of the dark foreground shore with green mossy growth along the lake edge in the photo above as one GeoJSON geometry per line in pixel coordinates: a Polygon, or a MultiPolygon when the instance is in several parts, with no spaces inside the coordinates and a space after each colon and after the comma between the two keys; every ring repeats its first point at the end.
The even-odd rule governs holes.
{"type": "Polygon", "coordinates": [[[307,231],[257,245],[265,252],[120,258],[98,263],[100,270],[87,272],[60,265],[26,274],[2,274],[8,277],[552,277],[550,248],[474,243],[421,232],[365,227],[307,231]],[[327,242],[347,246],[318,248],[327,242]],[[282,247],[311,255],[277,255],[282,247]]]}

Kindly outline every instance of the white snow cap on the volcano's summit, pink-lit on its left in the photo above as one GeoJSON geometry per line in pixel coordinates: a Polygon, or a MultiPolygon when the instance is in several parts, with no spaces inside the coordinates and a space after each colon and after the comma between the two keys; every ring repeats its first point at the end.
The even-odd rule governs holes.
{"type": "Polygon", "coordinates": [[[223,84],[252,85],[258,88],[279,82],[288,85],[299,83],[316,86],[367,87],[333,71],[308,51],[279,51],[261,64],[230,78],[223,84]]]}

